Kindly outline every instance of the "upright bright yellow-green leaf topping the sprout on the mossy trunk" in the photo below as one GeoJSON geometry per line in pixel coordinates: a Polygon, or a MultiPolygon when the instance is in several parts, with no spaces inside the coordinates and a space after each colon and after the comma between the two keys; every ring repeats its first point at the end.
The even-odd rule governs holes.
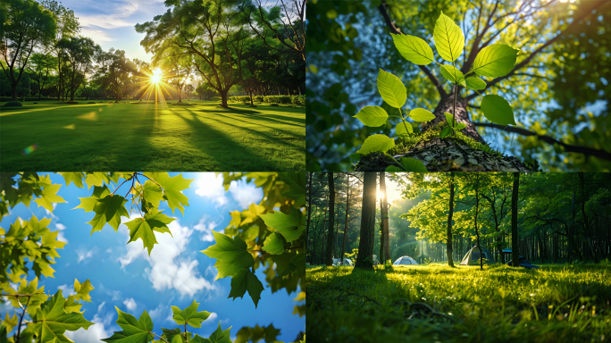
{"type": "Polygon", "coordinates": [[[439,56],[448,62],[456,61],[465,48],[463,31],[443,12],[435,22],[433,39],[439,56]]]}

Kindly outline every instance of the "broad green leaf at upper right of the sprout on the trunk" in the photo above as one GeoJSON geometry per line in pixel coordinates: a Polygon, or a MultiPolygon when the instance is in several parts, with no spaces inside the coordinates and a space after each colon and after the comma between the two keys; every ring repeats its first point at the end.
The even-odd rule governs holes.
{"type": "Polygon", "coordinates": [[[520,50],[505,44],[491,44],[480,50],[473,61],[473,71],[481,76],[498,78],[514,69],[520,50]]]}

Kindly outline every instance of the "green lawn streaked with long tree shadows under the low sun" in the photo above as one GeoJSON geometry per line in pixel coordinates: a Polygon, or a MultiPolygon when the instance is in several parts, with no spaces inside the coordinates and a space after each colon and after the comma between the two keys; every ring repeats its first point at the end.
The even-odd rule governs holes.
{"type": "MultiPolygon", "coordinates": [[[[303,171],[306,109],[190,100],[0,107],[3,171],[303,171]],[[28,146],[38,146],[24,154],[28,146]]],[[[4,103],[2,104],[4,105],[4,103]]]]}

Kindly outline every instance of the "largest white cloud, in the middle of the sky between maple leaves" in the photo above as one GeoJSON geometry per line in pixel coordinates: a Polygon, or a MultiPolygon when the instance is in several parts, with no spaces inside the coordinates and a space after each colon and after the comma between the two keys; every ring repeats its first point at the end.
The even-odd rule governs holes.
{"type": "MultiPolygon", "coordinates": [[[[173,238],[168,233],[155,232],[159,244],[155,245],[150,256],[146,254],[141,243],[128,244],[126,254],[119,258],[121,268],[142,257],[150,265],[145,272],[156,290],[176,289],[181,296],[193,296],[202,289],[216,289],[211,281],[200,276],[197,260],[181,257],[193,230],[180,226],[179,221],[171,222],[168,227],[172,231],[173,238]]],[[[128,233],[124,229],[121,232],[126,235],[128,233]]]]}

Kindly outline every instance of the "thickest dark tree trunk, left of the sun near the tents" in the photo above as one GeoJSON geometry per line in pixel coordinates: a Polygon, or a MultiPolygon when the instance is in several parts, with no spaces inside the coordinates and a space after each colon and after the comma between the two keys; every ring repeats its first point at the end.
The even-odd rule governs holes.
{"type": "Polygon", "coordinates": [[[375,230],[375,172],[365,172],[363,181],[363,205],[361,213],[361,233],[356,257],[356,269],[371,270],[373,255],[373,235],[375,230]]]}

